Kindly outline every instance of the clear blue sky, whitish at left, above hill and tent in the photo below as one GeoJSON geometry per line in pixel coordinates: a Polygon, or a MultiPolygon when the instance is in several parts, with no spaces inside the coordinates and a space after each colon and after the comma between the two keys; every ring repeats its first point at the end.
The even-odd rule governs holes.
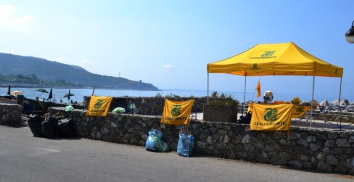
{"type": "MultiPolygon", "coordinates": [[[[208,63],[257,44],[293,42],[343,67],[342,98],[354,102],[354,44],[344,38],[352,7],[349,0],[0,0],[0,52],[141,79],[163,90],[206,91],[208,63]]],[[[312,76],[249,76],[248,94],[259,79],[274,99],[311,99],[312,76]]],[[[339,97],[340,78],[314,83],[314,99],[339,97]]],[[[243,100],[244,85],[243,76],[209,74],[210,92],[243,100]]]]}

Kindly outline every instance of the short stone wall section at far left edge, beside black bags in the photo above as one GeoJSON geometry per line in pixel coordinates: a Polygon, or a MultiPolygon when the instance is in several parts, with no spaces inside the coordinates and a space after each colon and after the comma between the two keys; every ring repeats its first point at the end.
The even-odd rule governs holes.
{"type": "Polygon", "coordinates": [[[22,106],[17,104],[0,103],[0,125],[20,125],[22,106]]]}

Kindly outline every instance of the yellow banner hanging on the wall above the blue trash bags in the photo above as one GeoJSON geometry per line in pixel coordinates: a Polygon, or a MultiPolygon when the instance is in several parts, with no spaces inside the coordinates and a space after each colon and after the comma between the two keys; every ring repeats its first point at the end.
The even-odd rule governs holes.
{"type": "Polygon", "coordinates": [[[161,116],[161,123],[169,125],[188,124],[193,103],[194,100],[174,101],[165,99],[165,107],[161,116]]]}

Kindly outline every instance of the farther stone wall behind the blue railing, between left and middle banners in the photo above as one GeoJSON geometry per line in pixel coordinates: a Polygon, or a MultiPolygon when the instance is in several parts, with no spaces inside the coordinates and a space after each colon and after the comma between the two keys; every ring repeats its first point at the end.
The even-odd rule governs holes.
{"type": "MultiPolygon", "coordinates": [[[[194,100],[192,112],[203,112],[203,104],[207,103],[207,97],[171,97],[171,100],[194,100]]],[[[212,100],[226,100],[227,98],[209,98],[209,102],[212,100]]],[[[85,96],[85,109],[90,102],[90,96],[85,96]]],[[[134,113],[161,115],[164,109],[165,98],[156,97],[113,97],[110,111],[116,107],[128,108],[130,104],[135,105],[134,113]]]]}

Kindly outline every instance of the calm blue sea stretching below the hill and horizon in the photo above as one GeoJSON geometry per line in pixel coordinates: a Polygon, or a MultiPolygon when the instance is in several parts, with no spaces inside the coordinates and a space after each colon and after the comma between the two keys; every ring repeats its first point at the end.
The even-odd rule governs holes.
{"type": "MultiPolygon", "coordinates": [[[[11,87],[11,91],[21,91],[23,95],[27,98],[35,98],[35,97],[40,97],[40,98],[48,98],[49,93],[41,93],[38,90],[39,88],[22,88],[22,87],[11,87]]],[[[50,91],[50,88],[44,88],[48,92],[50,91]]],[[[8,88],[3,87],[0,88],[0,95],[7,95],[8,88]]],[[[211,95],[211,92],[209,92],[209,96],[211,95]]],[[[92,94],[92,89],[70,89],[70,93],[74,94],[74,96],[70,96],[70,100],[67,98],[64,98],[64,95],[69,93],[69,89],[58,89],[58,88],[53,88],[52,89],[53,97],[56,98],[57,102],[62,99],[65,103],[70,102],[70,100],[73,100],[74,102],[83,102],[84,96],[90,96],[92,94]]],[[[207,91],[196,91],[196,90],[173,90],[173,89],[164,89],[162,91],[142,91],[142,90],[114,90],[114,89],[95,89],[94,95],[97,96],[112,96],[112,97],[121,97],[121,96],[133,96],[133,97],[154,97],[157,93],[161,93],[162,96],[174,94],[174,95],[179,95],[181,97],[203,97],[207,96],[207,91]]],[[[221,93],[225,94],[231,94],[234,99],[238,99],[240,102],[243,102],[244,100],[244,93],[243,92],[230,92],[230,91],[218,91],[219,95],[221,93]]],[[[284,101],[290,101],[294,97],[300,97],[301,100],[311,100],[311,94],[297,94],[297,95],[292,95],[292,94],[284,94],[284,93],[273,93],[274,94],[274,100],[284,100],[284,101]]],[[[328,100],[328,102],[331,102],[332,100],[338,99],[338,95],[314,95],[314,99],[318,100],[321,102],[322,100],[328,100]]],[[[343,98],[342,99],[348,99],[349,102],[354,102],[354,99],[352,98],[343,98]]],[[[246,100],[254,100],[254,101],[262,101],[262,97],[259,97],[257,99],[257,93],[248,93],[246,92],[246,100]]]]}

